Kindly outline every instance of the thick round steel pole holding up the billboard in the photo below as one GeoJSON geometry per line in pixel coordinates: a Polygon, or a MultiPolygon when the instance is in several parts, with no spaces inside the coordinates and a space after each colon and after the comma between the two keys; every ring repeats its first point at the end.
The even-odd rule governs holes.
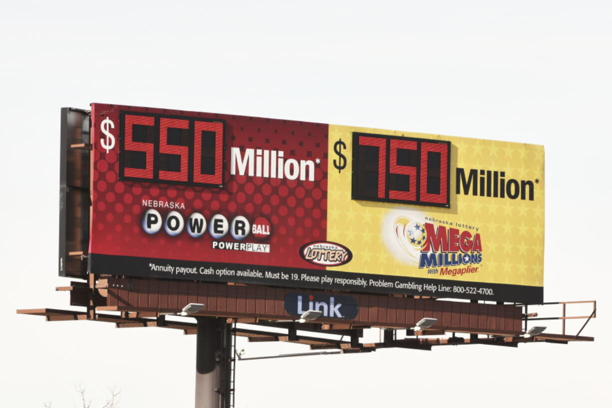
{"type": "Polygon", "coordinates": [[[221,352],[215,317],[197,317],[195,408],[219,408],[217,356],[221,352]]]}

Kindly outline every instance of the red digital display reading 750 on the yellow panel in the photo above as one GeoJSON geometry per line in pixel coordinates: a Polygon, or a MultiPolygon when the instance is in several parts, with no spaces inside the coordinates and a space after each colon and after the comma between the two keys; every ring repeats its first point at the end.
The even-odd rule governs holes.
{"type": "Polygon", "coordinates": [[[450,142],[353,133],[353,199],[448,208],[450,142]]]}

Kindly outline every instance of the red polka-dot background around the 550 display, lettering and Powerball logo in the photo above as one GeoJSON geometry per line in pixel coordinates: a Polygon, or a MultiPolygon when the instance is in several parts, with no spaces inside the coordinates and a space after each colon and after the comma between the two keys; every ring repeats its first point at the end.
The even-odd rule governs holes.
{"type": "MultiPolygon", "coordinates": [[[[119,179],[118,148],[106,153],[100,146],[100,122],[107,116],[115,124],[119,145],[119,112],[135,111],[133,107],[95,105],[92,115],[94,160],[92,179],[91,252],[95,254],[154,257],[209,262],[239,262],[244,252],[212,249],[212,237],[205,233],[192,238],[186,231],[177,236],[164,230],[147,235],[140,223],[144,211],[155,208],[162,217],[176,210],[187,220],[194,212],[207,221],[214,214],[223,214],[228,221],[242,215],[253,222],[265,217],[271,225],[271,236],[262,243],[270,244],[269,254],[248,253],[248,263],[316,268],[299,256],[299,248],[326,236],[321,218],[326,219],[327,198],[327,125],[245,116],[186,113],[145,109],[146,113],[162,113],[222,119],[225,121],[225,187],[211,188],[179,184],[144,183],[119,179]],[[230,174],[232,147],[278,150],[284,159],[310,160],[315,164],[315,181],[300,181],[230,174]],[[165,208],[165,206],[177,208],[165,208]]],[[[140,109],[140,108],[139,108],[140,109]]],[[[222,240],[234,241],[230,234],[222,240]]],[[[252,234],[243,242],[258,242],[252,234]]]]}

